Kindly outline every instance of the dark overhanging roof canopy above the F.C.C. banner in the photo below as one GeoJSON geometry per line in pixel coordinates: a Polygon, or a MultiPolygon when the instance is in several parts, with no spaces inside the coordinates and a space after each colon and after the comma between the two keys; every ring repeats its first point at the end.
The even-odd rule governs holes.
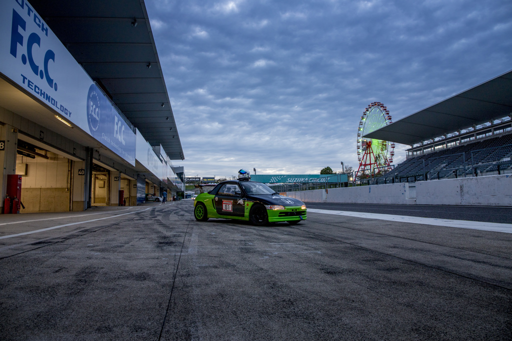
{"type": "Polygon", "coordinates": [[[30,4],[147,142],[161,144],[172,160],[183,160],[144,2],[30,0],[30,4]]]}

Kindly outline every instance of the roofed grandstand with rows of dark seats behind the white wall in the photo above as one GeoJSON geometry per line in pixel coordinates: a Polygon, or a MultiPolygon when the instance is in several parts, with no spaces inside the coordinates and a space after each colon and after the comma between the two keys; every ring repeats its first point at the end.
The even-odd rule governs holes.
{"type": "Polygon", "coordinates": [[[512,173],[510,94],[512,71],[365,135],[411,146],[370,184],[512,173]]]}

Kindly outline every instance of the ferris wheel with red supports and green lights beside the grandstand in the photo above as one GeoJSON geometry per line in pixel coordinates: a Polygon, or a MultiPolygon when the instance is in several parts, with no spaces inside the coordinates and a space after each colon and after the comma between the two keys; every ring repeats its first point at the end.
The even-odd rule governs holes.
{"type": "Polygon", "coordinates": [[[357,131],[357,160],[359,168],[355,176],[372,177],[391,169],[395,144],[389,141],[363,138],[364,135],[391,123],[388,108],[380,102],[368,105],[362,113],[357,131]]]}

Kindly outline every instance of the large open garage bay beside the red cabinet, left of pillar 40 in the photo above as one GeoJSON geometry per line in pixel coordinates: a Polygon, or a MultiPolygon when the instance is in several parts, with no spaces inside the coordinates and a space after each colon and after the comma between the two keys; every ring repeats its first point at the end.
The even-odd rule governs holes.
{"type": "MultiPolygon", "coordinates": [[[[21,213],[70,211],[73,161],[20,137],[16,174],[22,176],[21,213]]],[[[54,150],[54,149],[53,149],[54,150]]]]}

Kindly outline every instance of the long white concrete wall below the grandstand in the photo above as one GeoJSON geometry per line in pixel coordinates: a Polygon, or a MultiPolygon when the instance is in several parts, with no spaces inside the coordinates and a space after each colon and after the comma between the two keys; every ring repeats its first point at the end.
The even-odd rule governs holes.
{"type": "Polygon", "coordinates": [[[510,206],[512,175],[287,192],[306,202],[510,206]]]}

